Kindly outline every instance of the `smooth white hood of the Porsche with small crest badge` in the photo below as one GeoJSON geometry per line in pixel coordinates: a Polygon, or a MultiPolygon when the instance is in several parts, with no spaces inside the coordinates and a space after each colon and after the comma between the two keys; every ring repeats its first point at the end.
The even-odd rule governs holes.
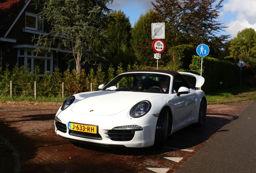
{"type": "Polygon", "coordinates": [[[94,91],[83,95],[72,107],[75,113],[86,115],[115,115],[136,103],[159,95],[126,91],[94,91]]]}

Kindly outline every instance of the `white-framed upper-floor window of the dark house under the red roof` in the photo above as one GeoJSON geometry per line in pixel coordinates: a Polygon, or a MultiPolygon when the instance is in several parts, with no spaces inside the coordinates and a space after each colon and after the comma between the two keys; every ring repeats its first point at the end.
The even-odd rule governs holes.
{"type": "Polygon", "coordinates": [[[33,30],[43,30],[43,17],[26,12],[26,27],[33,30]]]}

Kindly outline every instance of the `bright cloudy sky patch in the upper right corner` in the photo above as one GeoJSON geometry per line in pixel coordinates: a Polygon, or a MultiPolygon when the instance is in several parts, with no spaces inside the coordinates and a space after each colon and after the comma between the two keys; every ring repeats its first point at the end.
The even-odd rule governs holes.
{"type": "Polygon", "coordinates": [[[223,18],[225,15],[231,13],[235,15],[235,19],[226,22],[229,26],[226,28],[229,34],[236,36],[238,31],[244,28],[254,28],[256,30],[256,1],[255,0],[228,0],[223,4],[223,18]]]}

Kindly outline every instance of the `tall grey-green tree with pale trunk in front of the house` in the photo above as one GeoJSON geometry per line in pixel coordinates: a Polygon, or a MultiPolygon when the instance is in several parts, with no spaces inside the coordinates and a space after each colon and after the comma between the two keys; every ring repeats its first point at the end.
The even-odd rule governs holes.
{"type": "Polygon", "coordinates": [[[71,50],[76,62],[76,70],[81,72],[82,57],[86,61],[103,58],[96,51],[96,40],[105,36],[104,24],[109,19],[107,3],[113,0],[34,0],[39,15],[52,24],[48,35],[35,38],[36,46],[43,48],[56,45],[57,48],[71,50]]]}

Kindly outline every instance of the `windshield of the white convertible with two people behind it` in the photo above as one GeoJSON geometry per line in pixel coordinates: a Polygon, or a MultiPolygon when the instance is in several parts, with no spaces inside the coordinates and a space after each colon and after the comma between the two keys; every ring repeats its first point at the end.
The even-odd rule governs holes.
{"type": "Polygon", "coordinates": [[[170,76],[155,73],[121,74],[102,90],[133,91],[145,93],[169,93],[170,76]]]}

